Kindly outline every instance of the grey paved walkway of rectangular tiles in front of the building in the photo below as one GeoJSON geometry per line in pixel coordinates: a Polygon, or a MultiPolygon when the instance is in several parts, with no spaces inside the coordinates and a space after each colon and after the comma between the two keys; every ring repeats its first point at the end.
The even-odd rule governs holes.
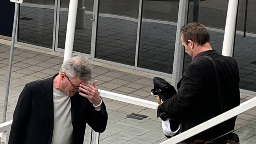
{"type": "MultiPolygon", "coordinates": [[[[10,44],[10,41],[0,39],[1,119],[4,107],[10,44]]],[[[62,61],[63,53],[15,45],[7,120],[12,119],[19,94],[24,85],[30,81],[45,79],[58,73],[62,61]]],[[[93,64],[93,80],[98,79],[99,89],[154,101],[152,96],[150,96],[150,89],[153,87],[152,79],[156,75],[95,61],[91,61],[91,63],[93,64]]],[[[159,77],[171,81],[171,78],[159,77]]],[[[241,102],[250,98],[250,96],[242,95],[241,102]]],[[[104,98],[104,102],[107,106],[109,119],[106,131],[100,134],[100,144],[158,144],[161,141],[167,140],[161,130],[161,121],[159,118],[156,118],[156,110],[106,98],[104,98]],[[148,117],[142,120],[128,118],[127,115],[132,113],[143,114],[148,117]]],[[[237,118],[236,127],[255,120],[255,115],[256,108],[240,114],[237,118]]],[[[239,133],[242,144],[255,143],[256,123],[239,129],[237,133],[239,133]]],[[[85,143],[89,142],[90,135],[90,131],[87,130],[85,143]]]]}

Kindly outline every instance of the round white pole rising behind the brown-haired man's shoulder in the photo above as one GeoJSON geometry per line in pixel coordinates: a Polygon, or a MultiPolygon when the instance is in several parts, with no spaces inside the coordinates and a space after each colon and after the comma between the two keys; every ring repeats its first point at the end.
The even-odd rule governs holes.
{"type": "Polygon", "coordinates": [[[236,15],[237,15],[238,0],[228,1],[228,12],[226,18],[226,26],[222,47],[222,55],[232,56],[233,54],[233,44],[236,28],[236,15]]]}

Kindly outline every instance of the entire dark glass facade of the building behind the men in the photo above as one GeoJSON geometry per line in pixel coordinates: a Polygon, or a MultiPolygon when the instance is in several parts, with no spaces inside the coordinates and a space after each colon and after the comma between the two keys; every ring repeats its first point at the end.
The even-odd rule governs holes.
{"type": "MultiPolygon", "coordinates": [[[[146,71],[148,69],[172,74],[179,2],[178,0],[142,0],[142,7],[139,7],[139,2],[139,0],[99,0],[96,33],[92,33],[94,0],[79,0],[78,8],[85,7],[85,16],[79,15],[77,18],[73,50],[83,54],[91,54],[92,51],[95,55],[91,54],[91,57],[144,68],[146,71]],[[140,10],[141,16],[139,16],[140,10]],[[81,25],[81,21],[84,22],[84,26],[81,25]],[[138,26],[139,22],[140,26],[138,26]],[[138,34],[140,37],[137,41],[138,34]],[[92,35],[96,35],[95,47],[91,44],[92,35]]],[[[245,20],[246,1],[239,1],[234,44],[234,58],[237,60],[241,77],[240,87],[252,91],[256,91],[255,4],[255,1],[248,0],[245,20]],[[244,31],[246,31],[245,36],[244,31]]],[[[20,5],[18,41],[53,48],[55,46],[53,35],[56,33],[54,15],[59,13],[59,19],[56,20],[58,30],[56,44],[58,48],[63,49],[69,0],[60,1],[57,14],[54,13],[55,5],[55,0],[24,0],[20,5]]],[[[212,48],[219,53],[222,52],[227,7],[228,1],[223,0],[189,1],[187,22],[198,21],[204,24],[210,32],[212,48]]],[[[185,53],[184,70],[190,62],[191,57],[185,53]]]]}

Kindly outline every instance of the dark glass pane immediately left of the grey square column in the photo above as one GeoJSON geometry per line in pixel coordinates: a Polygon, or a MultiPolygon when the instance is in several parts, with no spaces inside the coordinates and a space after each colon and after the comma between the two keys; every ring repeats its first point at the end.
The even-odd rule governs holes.
{"type": "Polygon", "coordinates": [[[138,67],[172,74],[178,4],[143,1],[138,67]]]}

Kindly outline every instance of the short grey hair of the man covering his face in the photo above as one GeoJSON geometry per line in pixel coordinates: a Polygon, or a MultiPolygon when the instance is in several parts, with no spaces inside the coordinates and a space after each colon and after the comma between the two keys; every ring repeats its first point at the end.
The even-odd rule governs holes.
{"type": "Polygon", "coordinates": [[[86,57],[76,56],[65,61],[59,70],[59,74],[65,72],[69,78],[78,77],[83,81],[91,80],[92,66],[86,57]]]}

